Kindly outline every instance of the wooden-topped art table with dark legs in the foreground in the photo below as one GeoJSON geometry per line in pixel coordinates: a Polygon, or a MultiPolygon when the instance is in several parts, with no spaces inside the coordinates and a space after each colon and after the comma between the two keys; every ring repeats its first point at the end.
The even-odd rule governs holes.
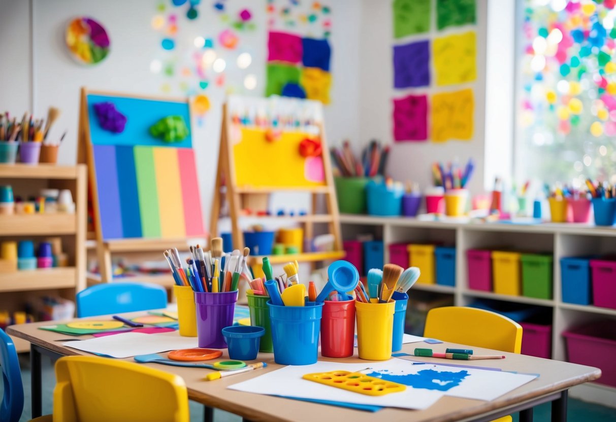
{"type": "MultiPolygon", "coordinates": [[[[143,313],[124,314],[126,317],[135,317],[143,313]]],[[[83,318],[101,319],[102,317],[83,318]]],[[[70,322],[70,321],[67,321],[70,322]]],[[[60,322],[58,322],[60,323],[60,322]]],[[[57,359],[62,356],[88,354],[76,349],[62,346],[62,339],[70,336],[39,330],[38,327],[49,325],[50,322],[35,322],[32,324],[11,325],[7,333],[31,343],[32,365],[32,417],[41,415],[41,355],[57,359]]],[[[79,336],[86,339],[91,336],[79,336]]],[[[416,347],[429,347],[432,349],[445,348],[471,348],[464,344],[442,343],[403,344],[402,351],[412,354],[416,347]]],[[[330,405],[314,404],[299,400],[285,399],[282,397],[264,396],[248,392],[226,389],[227,386],[249,380],[265,372],[273,371],[281,367],[274,363],[274,354],[261,353],[258,359],[267,362],[267,368],[254,370],[229,376],[216,381],[204,381],[208,369],[172,367],[169,365],[146,364],[151,367],[175,373],[184,378],[188,387],[188,399],[216,407],[227,412],[242,416],[250,421],[306,421],[317,420],[352,420],[354,422],[373,422],[378,420],[387,421],[421,421],[421,422],[447,422],[447,421],[490,421],[510,413],[520,412],[520,421],[532,421],[532,408],[538,404],[552,402],[552,420],[565,421],[567,419],[567,391],[572,386],[593,381],[601,376],[598,368],[587,367],[559,360],[540,359],[538,357],[524,356],[521,354],[497,352],[490,349],[472,347],[476,354],[505,354],[502,360],[468,360],[456,362],[469,366],[494,367],[508,371],[524,373],[537,373],[540,376],[523,386],[514,389],[507,394],[490,402],[482,400],[461,399],[458,397],[441,397],[436,404],[426,410],[404,410],[398,408],[383,408],[378,413],[351,410],[348,408],[334,407],[330,405]]],[[[227,351],[223,352],[221,359],[228,358],[227,351]]],[[[319,359],[323,359],[319,357],[319,359]]],[[[443,359],[416,358],[424,362],[438,364],[452,363],[443,359]]],[[[134,361],[132,357],[125,360],[134,361]]],[[[333,362],[358,363],[368,362],[361,360],[357,354],[347,359],[323,359],[333,362]]]]}

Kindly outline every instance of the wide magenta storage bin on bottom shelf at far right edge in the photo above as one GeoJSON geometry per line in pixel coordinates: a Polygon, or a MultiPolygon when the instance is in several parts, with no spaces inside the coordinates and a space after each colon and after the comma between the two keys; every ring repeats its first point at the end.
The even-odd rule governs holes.
{"type": "MultiPolygon", "coordinates": [[[[596,382],[616,387],[616,325],[614,321],[595,321],[562,332],[567,344],[567,360],[573,364],[601,369],[596,382]]],[[[524,335],[522,335],[524,338],[524,335]]]]}

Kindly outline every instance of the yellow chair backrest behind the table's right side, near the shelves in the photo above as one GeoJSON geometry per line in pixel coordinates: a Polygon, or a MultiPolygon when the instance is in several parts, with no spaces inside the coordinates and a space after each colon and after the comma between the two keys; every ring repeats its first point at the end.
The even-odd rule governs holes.
{"type": "Polygon", "coordinates": [[[501,314],[465,306],[430,309],[424,336],[503,352],[519,353],[522,348],[520,324],[501,314]]]}

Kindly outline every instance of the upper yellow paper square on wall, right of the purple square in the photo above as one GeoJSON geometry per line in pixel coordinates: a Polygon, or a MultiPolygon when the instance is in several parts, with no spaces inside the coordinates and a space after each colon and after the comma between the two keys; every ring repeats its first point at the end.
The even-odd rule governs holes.
{"type": "Polygon", "coordinates": [[[477,79],[477,49],[474,31],[435,38],[432,42],[437,86],[472,82],[477,79]]]}

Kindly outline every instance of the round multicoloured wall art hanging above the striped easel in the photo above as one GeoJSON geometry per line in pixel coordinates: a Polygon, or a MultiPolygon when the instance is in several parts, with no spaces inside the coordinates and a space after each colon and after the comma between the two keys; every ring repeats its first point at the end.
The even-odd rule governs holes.
{"type": "Polygon", "coordinates": [[[89,17],[78,17],[68,24],[66,42],[71,55],[86,65],[95,65],[109,54],[107,31],[89,17]]]}

